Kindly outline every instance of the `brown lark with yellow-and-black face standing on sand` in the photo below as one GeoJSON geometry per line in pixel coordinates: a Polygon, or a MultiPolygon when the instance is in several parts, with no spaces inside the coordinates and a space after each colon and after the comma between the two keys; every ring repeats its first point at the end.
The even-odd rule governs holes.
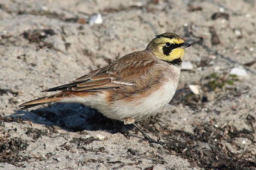
{"type": "Polygon", "coordinates": [[[44,90],[56,94],[25,102],[20,107],[51,102],[81,103],[110,119],[133,124],[148,142],[159,144],[136,122],[154,115],[171,101],[180,78],[184,48],[189,46],[177,34],[156,35],[145,50],[127,54],[68,84],[44,90]]]}

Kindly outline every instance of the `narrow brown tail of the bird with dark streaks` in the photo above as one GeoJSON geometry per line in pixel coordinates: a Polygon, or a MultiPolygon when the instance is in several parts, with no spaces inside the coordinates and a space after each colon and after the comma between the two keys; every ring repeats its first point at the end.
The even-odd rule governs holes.
{"type": "Polygon", "coordinates": [[[61,99],[63,99],[64,97],[68,97],[70,95],[71,95],[70,92],[60,92],[60,93],[53,94],[50,96],[41,97],[39,99],[31,100],[29,102],[19,105],[19,107],[22,107],[20,109],[27,109],[27,108],[32,108],[34,106],[43,105],[46,103],[60,102],[61,99]]]}

